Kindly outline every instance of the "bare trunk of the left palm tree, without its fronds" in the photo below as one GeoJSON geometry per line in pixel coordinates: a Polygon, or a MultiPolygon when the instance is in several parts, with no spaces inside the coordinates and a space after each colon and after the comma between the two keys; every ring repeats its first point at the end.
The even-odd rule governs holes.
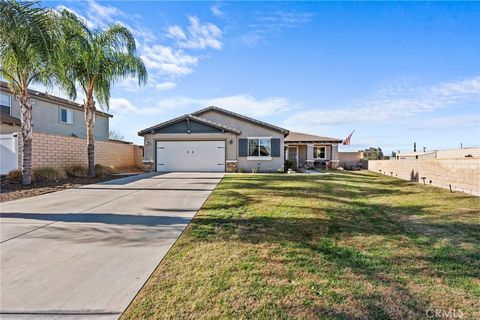
{"type": "Polygon", "coordinates": [[[32,104],[28,89],[19,96],[22,123],[22,184],[32,183],[32,104]]]}

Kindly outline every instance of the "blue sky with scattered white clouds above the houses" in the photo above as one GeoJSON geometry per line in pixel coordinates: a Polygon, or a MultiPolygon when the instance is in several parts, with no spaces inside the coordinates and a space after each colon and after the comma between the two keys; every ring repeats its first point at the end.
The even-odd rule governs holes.
{"type": "MultiPolygon", "coordinates": [[[[114,86],[111,129],[217,105],[342,150],[480,144],[480,3],[47,1],[131,28],[149,83],[114,86]]],[[[55,93],[55,92],[52,92],[55,93]]]]}

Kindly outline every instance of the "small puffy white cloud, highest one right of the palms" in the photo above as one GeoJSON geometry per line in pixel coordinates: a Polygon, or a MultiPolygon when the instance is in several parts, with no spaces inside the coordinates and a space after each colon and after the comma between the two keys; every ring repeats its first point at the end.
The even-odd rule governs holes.
{"type": "Polygon", "coordinates": [[[202,24],[195,16],[188,17],[190,25],[185,31],[174,25],[167,29],[167,36],[176,40],[181,48],[188,49],[221,49],[222,30],[213,23],[202,24]]]}

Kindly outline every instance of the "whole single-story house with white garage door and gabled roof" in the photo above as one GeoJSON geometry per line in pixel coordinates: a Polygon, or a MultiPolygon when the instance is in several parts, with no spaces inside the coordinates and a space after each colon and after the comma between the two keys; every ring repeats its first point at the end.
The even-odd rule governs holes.
{"type": "Polygon", "coordinates": [[[298,164],[301,159],[312,165],[335,163],[341,142],[298,133],[289,140],[287,129],[213,106],[138,134],[144,137],[145,165],[160,172],[275,172],[283,170],[288,155],[298,158],[298,164]]]}

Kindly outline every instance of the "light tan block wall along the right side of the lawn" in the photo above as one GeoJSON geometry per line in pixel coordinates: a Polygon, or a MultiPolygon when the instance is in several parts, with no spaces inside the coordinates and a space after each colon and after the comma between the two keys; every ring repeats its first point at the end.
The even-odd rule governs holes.
{"type": "Polygon", "coordinates": [[[480,159],[370,160],[368,170],[480,196],[480,159]]]}

